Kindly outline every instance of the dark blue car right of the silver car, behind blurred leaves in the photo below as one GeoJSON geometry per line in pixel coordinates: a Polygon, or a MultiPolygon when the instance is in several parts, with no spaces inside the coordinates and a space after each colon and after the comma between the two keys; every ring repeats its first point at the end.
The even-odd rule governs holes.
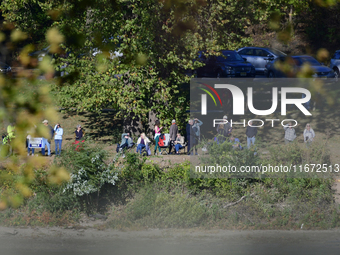
{"type": "Polygon", "coordinates": [[[266,65],[265,73],[268,77],[295,78],[304,64],[309,64],[311,67],[310,76],[313,78],[335,78],[335,72],[332,69],[308,55],[277,58],[266,65]],[[286,70],[285,72],[278,68],[280,64],[286,70]]]}

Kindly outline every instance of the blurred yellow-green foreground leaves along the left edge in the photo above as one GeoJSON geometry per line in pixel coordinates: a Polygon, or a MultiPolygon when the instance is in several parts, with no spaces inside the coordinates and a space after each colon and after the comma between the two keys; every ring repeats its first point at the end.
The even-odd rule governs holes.
{"type": "MultiPolygon", "coordinates": [[[[51,49],[57,52],[58,44],[63,37],[57,30],[49,30],[47,33],[51,49]]],[[[3,25],[0,32],[2,57],[6,58],[17,53],[17,48],[26,38],[26,33],[15,29],[12,24],[3,25]]],[[[0,143],[0,170],[6,169],[11,173],[10,182],[14,188],[11,194],[0,197],[0,210],[7,206],[17,207],[25,197],[31,196],[33,192],[29,185],[35,178],[34,170],[46,169],[48,165],[46,159],[26,157],[25,141],[28,132],[33,137],[46,137],[47,131],[39,123],[45,118],[54,121],[53,116],[56,116],[49,96],[49,87],[38,85],[36,80],[40,71],[49,77],[51,72],[54,72],[53,66],[44,61],[37,66],[28,55],[31,47],[25,46],[17,60],[12,62],[12,66],[17,68],[15,78],[10,74],[0,75],[1,130],[6,130],[8,125],[14,127],[14,137],[12,135],[6,145],[0,143]],[[38,72],[30,70],[32,67],[37,68],[38,72]],[[6,158],[8,151],[12,151],[13,155],[6,158]]],[[[47,175],[49,183],[60,184],[69,179],[69,174],[64,168],[50,167],[47,169],[47,175]]]]}

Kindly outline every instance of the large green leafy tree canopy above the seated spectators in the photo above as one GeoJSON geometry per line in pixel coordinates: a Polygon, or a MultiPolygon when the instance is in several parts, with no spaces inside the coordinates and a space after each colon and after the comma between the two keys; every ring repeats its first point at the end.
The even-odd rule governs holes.
{"type": "MultiPolygon", "coordinates": [[[[3,2],[7,19],[35,29],[28,22],[19,24],[26,12],[23,17],[10,14],[9,10],[28,8],[22,1],[14,2],[3,2]]],[[[188,95],[181,89],[189,82],[188,70],[201,65],[194,61],[199,50],[216,54],[250,44],[245,34],[249,26],[266,22],[275,11],[288,15],[291,6],[300,10],[308,2],[32,1],[49,19],[45,25],[60,27],[72,52],[56,61],[70,74],[55,88],[61,105],[86,111],[111,107],[144,121],[150,111],[167,121],[185,116],[188,95]],[[94,48],[102,53],[93,57],[94,48]],[[114,51],[124,56],[112,61],[114,51]]],[[[36,23],[43,21],[32,17],[36,23]]],[[[164,124],[170,124],[167,121],[164,124]]]]}

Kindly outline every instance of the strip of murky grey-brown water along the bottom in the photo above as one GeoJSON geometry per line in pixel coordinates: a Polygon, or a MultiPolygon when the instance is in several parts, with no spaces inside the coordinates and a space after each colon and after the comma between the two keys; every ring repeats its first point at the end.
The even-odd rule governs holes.
{"type": "Polygon", "coordinates": [[[232,231],[0,227],[1,255],[340,254],[340,230],[232,231]]]}

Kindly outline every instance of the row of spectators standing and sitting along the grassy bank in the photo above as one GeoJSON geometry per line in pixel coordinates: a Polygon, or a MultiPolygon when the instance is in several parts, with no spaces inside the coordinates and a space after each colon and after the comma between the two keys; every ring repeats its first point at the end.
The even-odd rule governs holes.
{"type": "MultiPolygon", "coordinates": [[[[223,116],[223,119],[226,120],[225,124],[220,124],[217,126],[217,137],[215,137],[215,141],[217,143],[223,143],[227,139],[233,144],[233,148],[243,149],[243,147],[240,144],[240,140],[234,136],[232,136],[232,127],[229,122],[227,122],[228,117],[225,115],[223,116]]],[[[49,125],[48,120],[44,120],[42,122],[45,128],[44,136],[42,137],[42,148],[41,153],[44,156],[45,155],[45,147],[47,147],[47,155],[51,156],[51,142],[54,137],[55,142],[55,155],[60,155],[61,153],[61,147],[62,147],[62,140],[63,140],[63,134],[64,130],[62,129],[61,125],[57,123],[54,128],[52,128],[51,125],[49,125]]],[[[203,125],[203,122],[197,118],[190,119],[188,121],[188,124],[186,126],[186,138],[187,138],[187,151],[188,155],[193,155],[195,152],[195,155],[198,155],[197,153],[197,145],[200,141],[200,135],[201,135],[201,126],[203,125]]],[[[247,136],[247,148],[249,149],[252,145],[255,145],[255,139],[257,136],[257,127],[252,126],[253,122],[249,121],[247,129],[246,129],[246,136],[247,136]]],[[[11,126],[12,127],[12,126],[11,126]]],[[[14,137],[14,129],[9,128],[9,134],[14,137]]],[[[161,147],[159,146],[159,138],[161,135],[161,131],[163,130],[163,127],[160,125],[160,121],[156,120],[155,122],[155,149],[154,154],[157,155],[157,149],[159,153],[161,152],[161,147]]],[[[288,125],[284,126],[285,130],[285,143],[293,142],[296,139],[296,132],[294,127],[292,126],[292,123],[289,122],[288,125]]],[[[184,137],[179,133],[178,131],[178,125],[176,123],[176,120],[172,120],[170,130],[169,130],[169,136],[170,136],[170,144],[169,144],[169,154],[171,154],[172,149],[175,150],[176,154],[179,154],[180,149],[185,147],[185,139],[184,137]]],[[[308,147],[310,143],[315,138],[315,132],[311,128],[311,125],[307,123],[306,128],[303,132],[304,142],[306,143],[306,146],[308,147]]],[[[76,143],[81,141],[83,139],[83,130],[81,128],[81,125],[77,125],[77,129],[75,130],[75,138],[76,143]]],[[[31,134],[28,134],[27,136],[27,145],[29,142],[29,139],[31,139],[31,134]]],[[[124,148],[132,147],[133,140],[130,137],[129,133],[123,133],[122,134],[122,142],[120,144],[120,150],[123,150],[124,148]]],[[[142,153],[142,150],[145,148],[148,152],[148,155],[151,155],[150,151],[150,139],[145,135],[145,133],[142,133],[140,137],[137,140],[137,149],[136,152],[142,153]]],[[[30,155],[30,152],[32,152],[32,155],[34,155],[34,148],[28,147],[28,156],[30,155]]]]}

